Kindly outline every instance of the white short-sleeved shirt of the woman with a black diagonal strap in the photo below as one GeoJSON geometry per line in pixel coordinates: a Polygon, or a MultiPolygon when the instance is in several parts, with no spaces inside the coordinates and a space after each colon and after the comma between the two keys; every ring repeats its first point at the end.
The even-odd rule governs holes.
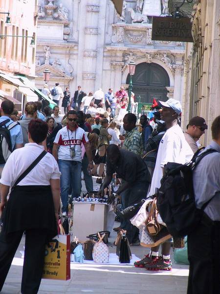
{"type": "MultiPolygon", "coordinates": [[[[0,183],[12,187],[43,151],[44,147],[36,143],[27,143],[24,147],[14,150],[5,163],[0,183]]],[[[50,179],[60,179],[60,171],[53,155],[47,152],[33,170],[18,183],[18,186],[48,186],[50,179]]]]}

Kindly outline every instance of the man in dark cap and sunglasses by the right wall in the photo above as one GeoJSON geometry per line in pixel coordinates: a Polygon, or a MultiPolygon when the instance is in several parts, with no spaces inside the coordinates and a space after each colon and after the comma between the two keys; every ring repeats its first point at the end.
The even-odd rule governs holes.
{"type": "Polygon", "coordinates": [[[186,142],[189,144],[194,153],[198,150],[197,141],[202,134],[207,130],[208,125],[201,117],[193,117],[187,125],[187,130],[184,133],[186,142]]]}

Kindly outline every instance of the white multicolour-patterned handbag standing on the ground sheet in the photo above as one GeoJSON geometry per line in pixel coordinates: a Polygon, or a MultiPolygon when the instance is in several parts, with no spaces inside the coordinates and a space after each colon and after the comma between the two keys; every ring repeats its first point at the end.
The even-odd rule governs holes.
{"type": "Polygon", "coordinates": [[[101,237],[98,233],[99,241],[94,245],[92,250],[92,258],[95,263],[109,262],[109,247],[102,241],[105,234],[101,237]]]}

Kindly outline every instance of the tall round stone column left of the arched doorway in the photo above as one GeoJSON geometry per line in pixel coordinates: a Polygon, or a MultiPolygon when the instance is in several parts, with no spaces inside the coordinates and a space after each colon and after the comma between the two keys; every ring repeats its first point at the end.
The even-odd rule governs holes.
{"type": "Polygon", "coordinates": [[[84,90],[95,91],[96,58],[98,39],[98,17],[100,0],[88,0],[83,54],[83,85],[84,90]]]}

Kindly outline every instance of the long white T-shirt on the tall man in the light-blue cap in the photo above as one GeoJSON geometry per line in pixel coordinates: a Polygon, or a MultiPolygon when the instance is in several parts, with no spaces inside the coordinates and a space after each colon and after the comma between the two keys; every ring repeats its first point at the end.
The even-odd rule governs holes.
{"type": "Polygon", "coordinates": [[[160,141],[151,190],[148,196],[154,195],[156,188],[160,188],[164,165],[168,162],[185,164],[190,162],[194,153],[186,142],[183,131],[178,124],[170,127],[160,141]]]}

